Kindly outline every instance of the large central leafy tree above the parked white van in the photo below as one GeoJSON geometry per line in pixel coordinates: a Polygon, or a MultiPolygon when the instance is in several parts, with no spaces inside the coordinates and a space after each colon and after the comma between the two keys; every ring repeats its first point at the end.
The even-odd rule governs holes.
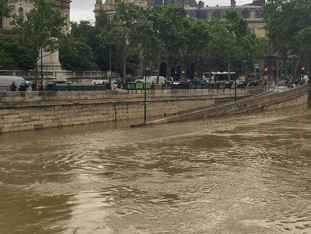
{"type": "Polygon", "coordinates": [[[175,3],[170,0],[166,6],[145,9],[139,22],[137,35],[144,61],[154,62],[157,70],[162,61],[170,60],[176,64],[180,59],[185,61],[185,54],[188,55],[188,50],[182,54],[182,49],[187,45],[187,11],[175,3]]]}

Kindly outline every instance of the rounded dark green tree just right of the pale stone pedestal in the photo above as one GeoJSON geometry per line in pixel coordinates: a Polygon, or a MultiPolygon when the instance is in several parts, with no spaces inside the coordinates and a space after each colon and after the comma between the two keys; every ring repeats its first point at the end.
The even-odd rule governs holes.
{"type": "Polygon", "coordinates": [[[89,70],[93,53],[92,49],[83,41],[67,35],[59,42],[59,47],[59,60],[63,69],[69,71],[89,70]]]}

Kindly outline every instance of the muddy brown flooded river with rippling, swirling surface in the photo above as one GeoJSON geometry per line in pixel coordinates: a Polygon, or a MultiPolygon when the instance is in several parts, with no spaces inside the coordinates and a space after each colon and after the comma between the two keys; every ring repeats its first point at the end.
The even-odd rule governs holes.
{"type": "Polygon", "coordinates": [[[0,234],[311,233],[311,110],[0,135],[0,234]]]}

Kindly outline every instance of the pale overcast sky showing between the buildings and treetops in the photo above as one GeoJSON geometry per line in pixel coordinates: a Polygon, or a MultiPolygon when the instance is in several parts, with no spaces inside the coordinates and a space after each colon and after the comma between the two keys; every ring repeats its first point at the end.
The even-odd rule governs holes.
{"type": "MultiPolygon", "coordinates": [[[[103,0],[104,2],[105,0],[103,0]]],[[[247,3],[251,3],[252,0],[235,0],[236,5],[243,5],[247,3]]],[[[199,0],[197,0],[199,2],[199,0]]],[[[230,5],[230,0],[203,0],[205,3],[204,6],[207,4],[209,6],[216,6],[221,5],[230,5]]],[[[70,20],[71,21],[80,21],[81,19],[94,19],[94,5],[96,0],[73,0],[71,3],[71,10],[70,10],[70,20]]]]}

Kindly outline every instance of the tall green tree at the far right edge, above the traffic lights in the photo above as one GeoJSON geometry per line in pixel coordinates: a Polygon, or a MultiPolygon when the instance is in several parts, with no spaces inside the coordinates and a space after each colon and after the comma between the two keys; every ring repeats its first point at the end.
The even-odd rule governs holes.
{"type": "Polygon", "coordinates": [[[309,42],[304,40],[304,35],[311,26],[310,12],[310,0],[268,0],[264,5],[265,28],[284,65],[289,55],[298,55],[298,67],[308,53],[304,49],[309,42]]]}

